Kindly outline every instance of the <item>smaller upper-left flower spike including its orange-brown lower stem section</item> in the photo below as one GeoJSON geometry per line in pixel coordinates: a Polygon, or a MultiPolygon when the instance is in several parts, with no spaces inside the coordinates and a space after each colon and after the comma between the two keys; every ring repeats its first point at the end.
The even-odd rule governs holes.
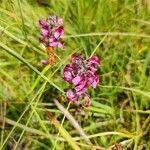
{"type": "Polygon", "coordinates": [[[39,27],[41,30],[41,37],[39,38],[47,50],[48,59],[41,60],[43,65],[53,65],[57,61],[57,55],[54,48],[63,48],[64,42],[61,41],[61,36],[64,34],[63,19],[59,16],[48,16],[47,19],[39,20],[39,27]]]}

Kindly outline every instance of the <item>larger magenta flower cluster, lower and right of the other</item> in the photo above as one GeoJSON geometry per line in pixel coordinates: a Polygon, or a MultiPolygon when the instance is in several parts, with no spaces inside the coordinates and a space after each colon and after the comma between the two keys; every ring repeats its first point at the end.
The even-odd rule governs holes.
{"type": "Polygon", "coordinates": [[[96,74],[100,60],[97,56],[85,59],[83,54],[73,54],[71,64],[64,68],[63,79],[73,85],[73,89],[66,92],[66,97],[71,102],[76,102],[80,98],[85,99],[85,106],[90,105],[90,97],[87,94],[88,88],[94,89],[99,83],[96,74]]]}

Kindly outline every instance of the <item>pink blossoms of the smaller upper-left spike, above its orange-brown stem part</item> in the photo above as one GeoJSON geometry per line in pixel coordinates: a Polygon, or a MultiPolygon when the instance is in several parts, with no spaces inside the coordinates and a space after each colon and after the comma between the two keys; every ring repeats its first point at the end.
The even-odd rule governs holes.
{"type": "Polygon", "coordinates": [[[48,16],[47,19],[39,20],[39,27],[41,28],[41,37],[39,41],[46,47],[63,48],[64,43],[60,40],[61,35],[64,34],[63,19],[59,16],[48,16]]]}

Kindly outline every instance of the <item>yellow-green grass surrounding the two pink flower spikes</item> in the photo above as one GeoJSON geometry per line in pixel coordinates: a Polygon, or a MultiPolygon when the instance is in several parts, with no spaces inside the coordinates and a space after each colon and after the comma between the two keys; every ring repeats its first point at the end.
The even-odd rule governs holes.
{"type": "Polygon", "coordinates": [[[0,6],[0,149],[150,149],[146,0],[1,0],[0,6]],[[38,20],[49,14],[64,19],[65,49],[56,49],[59,61],[45,67],[38,20]],[[89,90],[92,104],[81,112],[65,99],[61,77],[74,52],[101,58],[100,85],[89,90]]]}

